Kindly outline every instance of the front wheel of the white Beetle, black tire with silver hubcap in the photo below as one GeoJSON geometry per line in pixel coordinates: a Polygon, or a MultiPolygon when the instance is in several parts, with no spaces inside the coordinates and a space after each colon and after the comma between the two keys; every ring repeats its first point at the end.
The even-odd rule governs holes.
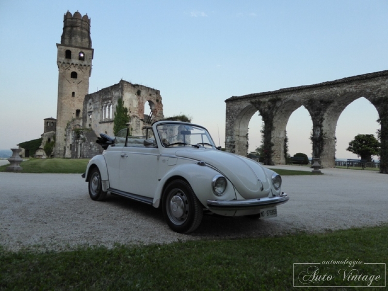
{"type": "Polygon", "coordinates": [[[203,206],[185,180],[168,184],[162,197],[162,210],[168,226],[179,233],[193,232],[202,221],[203,206]]]}

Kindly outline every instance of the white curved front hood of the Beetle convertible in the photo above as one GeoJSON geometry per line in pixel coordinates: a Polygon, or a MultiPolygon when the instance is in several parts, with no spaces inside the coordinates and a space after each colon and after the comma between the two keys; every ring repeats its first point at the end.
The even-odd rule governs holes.
{"type": "Polygon", "coordinates": [[[268,196],[270,179],[259,163],[242,156],[209,148],[176,151],[177,157],[206,162],[229,179],[245,199],[268,196]]]}

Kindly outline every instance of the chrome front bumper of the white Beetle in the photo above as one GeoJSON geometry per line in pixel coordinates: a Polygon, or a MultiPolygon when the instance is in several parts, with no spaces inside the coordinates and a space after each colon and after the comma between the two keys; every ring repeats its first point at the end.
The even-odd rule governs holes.
{"type": "Polygon", "coordinates": [[[210,209],[219,210],[244,210],[244,209],[260,209],[277,206],[286,203],[290,199],[288,194],[282,193],[280,196],[264,197],[258,199],[247,200],[208,200],[210,209]]]}

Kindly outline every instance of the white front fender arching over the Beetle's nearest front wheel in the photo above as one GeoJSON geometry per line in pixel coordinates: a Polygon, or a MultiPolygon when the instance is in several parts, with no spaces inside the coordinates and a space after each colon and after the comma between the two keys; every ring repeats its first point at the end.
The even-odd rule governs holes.
{"type": "MultiPolygon", "coordinates": [[[[221,198],[213,193],[211,181],[216,175],[222,175],[220,172],[207,165],[199,165],[198,163],[185,163],[173,167],[171,171],[167,172],[164,177],[161,178],[160,183],[155,191],[155,196],[152,205],[159,207],[161,203],[161,197],[163,189],[166,183],[173,177],[181,177],[189,182],[198,200],[206,207],[207,200],[221,198]]],[[[225,177],[225,176],[224,176],[225,177]]],[[[225,177],[227,179],[227,177],[225,177]]],[[[225,194],[222,195],[222,199],[232,200],[236,199],[236,194],[232,183],[227,179],[228,187],[225,194]]]]}

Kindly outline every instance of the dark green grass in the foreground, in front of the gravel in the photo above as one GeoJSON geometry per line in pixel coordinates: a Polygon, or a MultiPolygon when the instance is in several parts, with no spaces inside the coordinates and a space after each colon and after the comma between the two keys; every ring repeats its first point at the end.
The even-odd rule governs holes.
{"type": "MultiPolygon", "coordinates": [[[[116,245],[113,249],[91,246],[64,252],[8,252],[0,247],[0,290],[293,290],[294,263],[347,258],[387,263],[387,237],[388,226],[378,226],[325,234],[116,245]]],[[[359,284],[344,283],[338,275],[340,268],[352,269],[322,265],[324,272],[335,275],[331,286],[359,284]]],[[[384,284],[381,265],[357,264],[355,268],[383,275],[377,283],[384,284]]]]}

